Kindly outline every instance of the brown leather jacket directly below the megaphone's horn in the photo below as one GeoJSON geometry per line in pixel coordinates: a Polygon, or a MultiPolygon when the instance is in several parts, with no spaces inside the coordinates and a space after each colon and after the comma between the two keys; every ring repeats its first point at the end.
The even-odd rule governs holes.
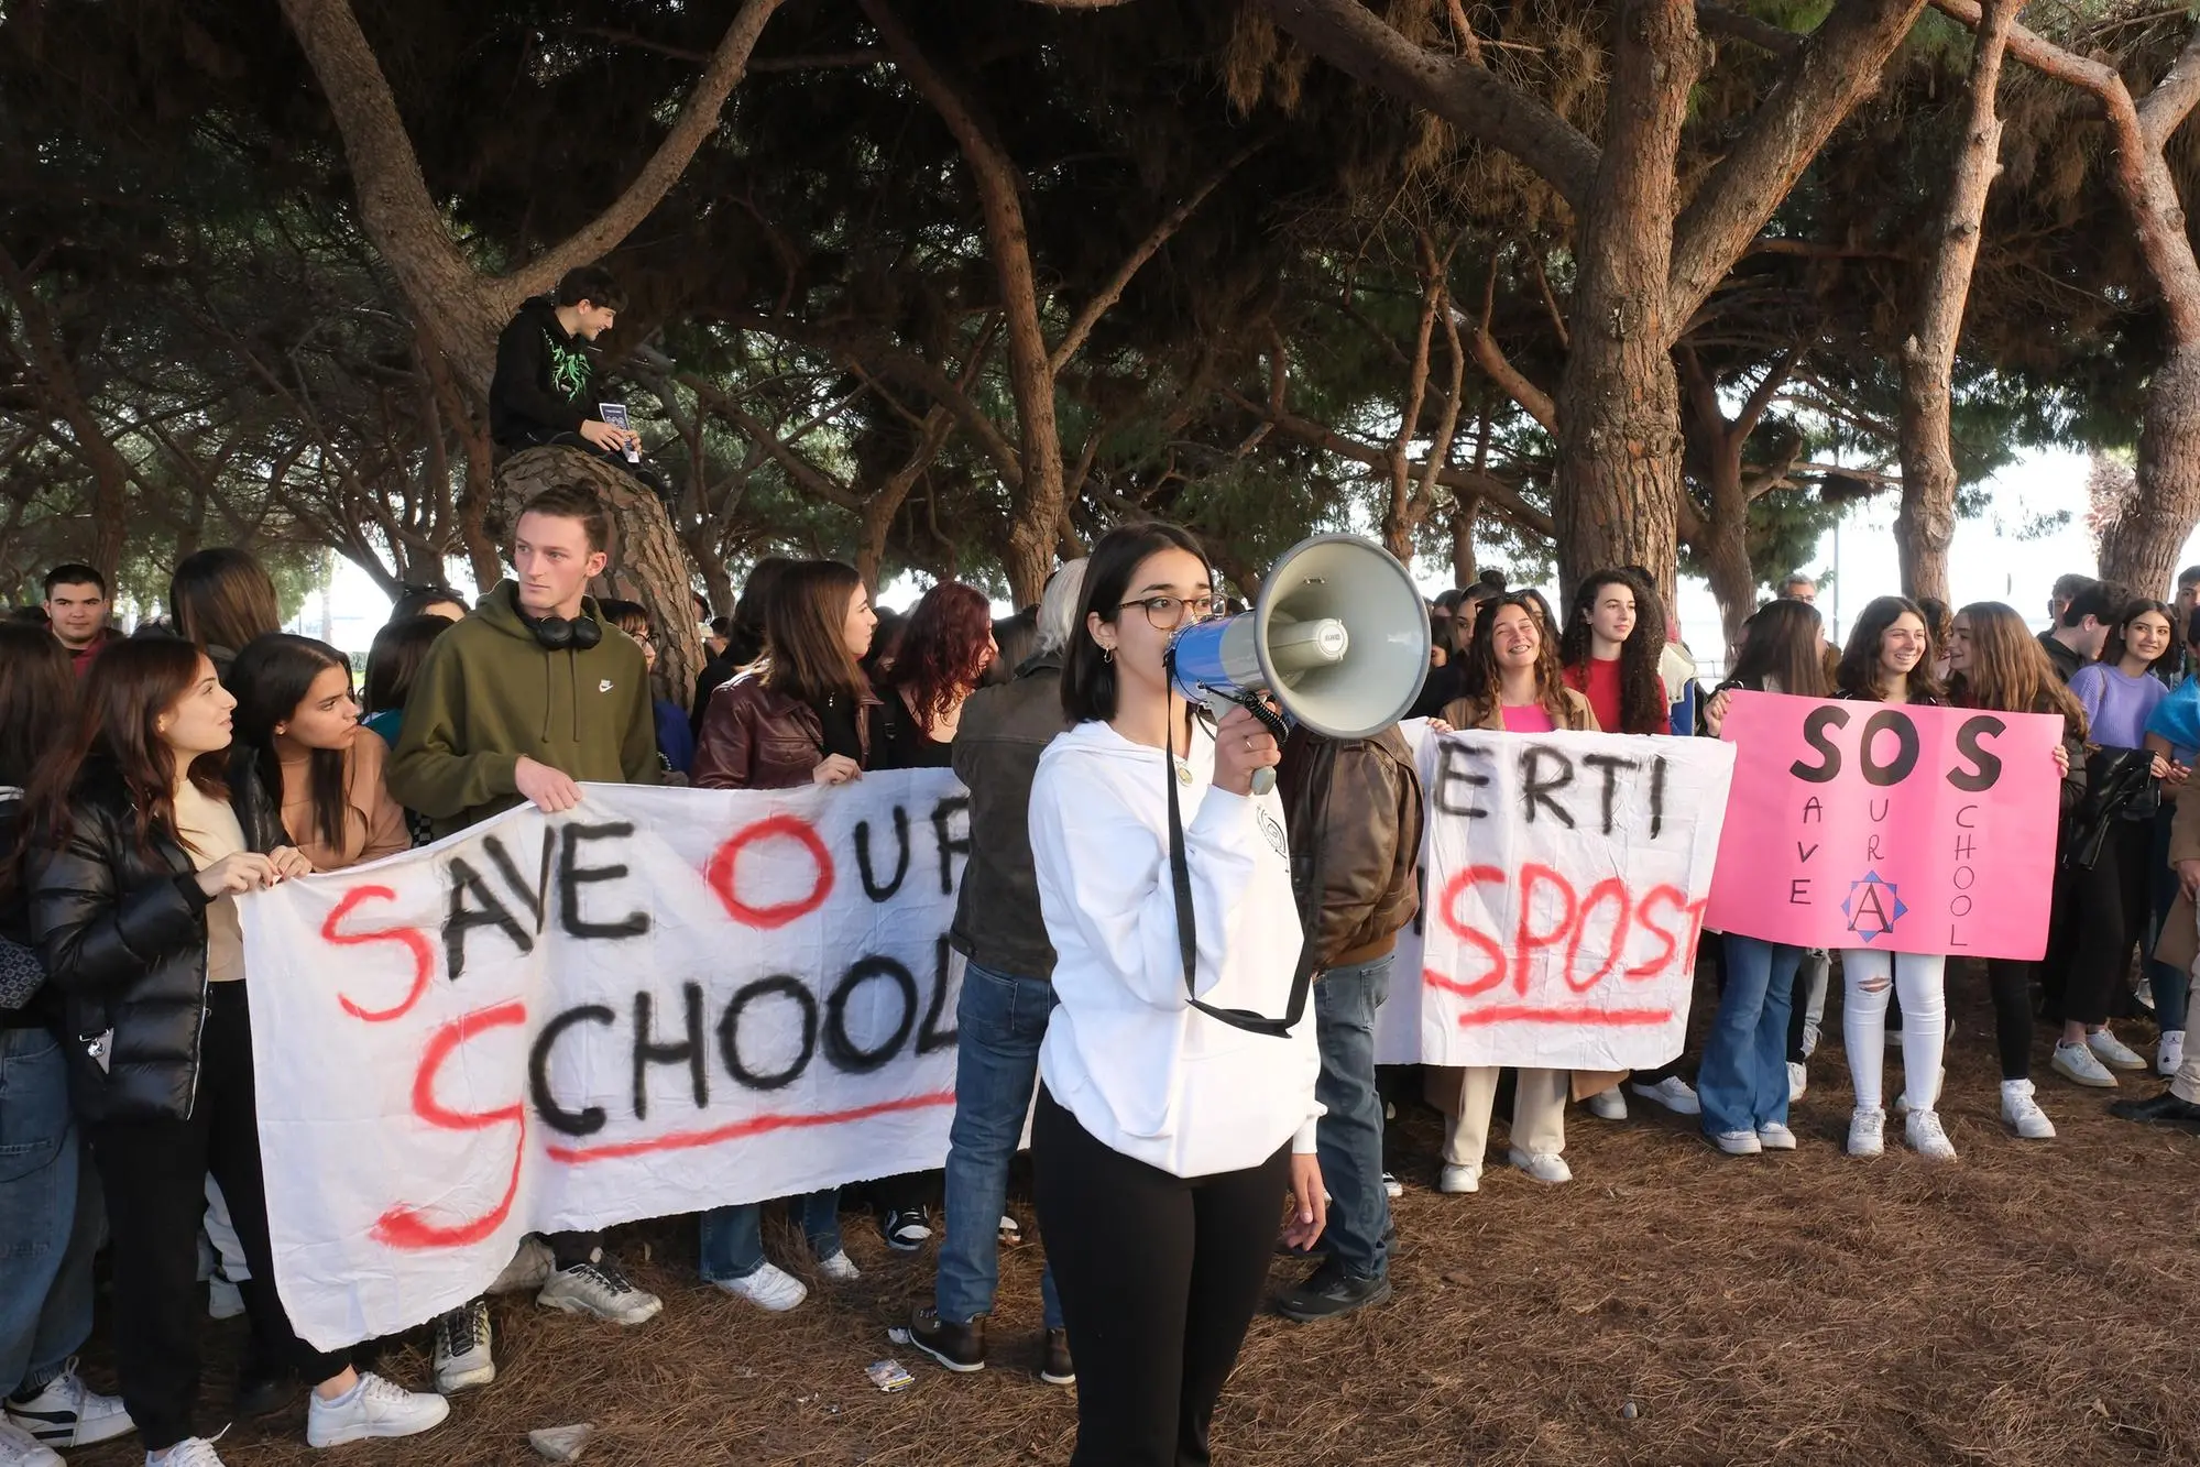
{"type": "Polygon", "coordinates": [[[1421,776],[1406,737],[1395,724],[1373,739],[1324,739],[1296,728],[1283,746],[1276,787],[1316,972],[1390,952],[1421,911],[1421,776]],[[1309,891],[1316,847],[1318,893],[1309,891]]]}

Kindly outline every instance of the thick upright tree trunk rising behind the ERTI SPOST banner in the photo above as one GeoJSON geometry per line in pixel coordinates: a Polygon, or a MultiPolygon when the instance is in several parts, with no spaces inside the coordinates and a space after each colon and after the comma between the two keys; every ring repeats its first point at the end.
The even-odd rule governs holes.
{"type": "Polygon", "coordinates": [[[1670,345],[1674,156],[1701,64],[1692,0],[1628,0],[1613,37],[1606,145],[1580,220],[1573,345],[1558,385],[1560,587],[1643,565],[1672,605],[1681,391],[1670,345]]]}

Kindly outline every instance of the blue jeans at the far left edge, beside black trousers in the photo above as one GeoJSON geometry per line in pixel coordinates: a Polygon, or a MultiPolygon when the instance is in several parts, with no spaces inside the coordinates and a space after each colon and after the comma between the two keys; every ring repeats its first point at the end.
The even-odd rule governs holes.
{"type": "Polygon", "coordinates": [[[90,1339],[103,1232],[62,1043],[46,1029],[0,1029],[0,1394],[90,1339]]]}

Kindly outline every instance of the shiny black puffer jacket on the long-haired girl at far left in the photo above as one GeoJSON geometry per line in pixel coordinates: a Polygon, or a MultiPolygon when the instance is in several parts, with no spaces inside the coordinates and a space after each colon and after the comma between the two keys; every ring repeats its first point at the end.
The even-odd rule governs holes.
{"type": "MultiPolygon", "coordinates": [[[[233,798],[244,842],[288,845],[257,790],[233,798]]],[[[207,1012],[207,895],[172,834],[136,842],[121,772],[92,757],[62,849],[31,856],[31,935],[62,992],[77,1117],[187,1117],[207,1012]]]]}

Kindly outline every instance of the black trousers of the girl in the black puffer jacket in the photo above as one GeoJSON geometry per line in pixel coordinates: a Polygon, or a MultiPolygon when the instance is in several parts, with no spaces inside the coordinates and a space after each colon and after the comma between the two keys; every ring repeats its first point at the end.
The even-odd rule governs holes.
{"type": "Polygon", "coordinates": [[[253,1108],[253,1021],[244,983],[207,988],[198,1098],[189,1119],[112,1119],[86,1128],[108,1194],[114,1240],[114,1364],[123,1403],[147,1452],[196,1436],[198,1218],[207,1172],[222,1183],[229,1221],[253,1276],[238,1284],[262,1364],[319,1383],[343,1375],[345,1353],[323,1355],[297,1337],[275,1293],[260,1119],[253,1108]]]}

